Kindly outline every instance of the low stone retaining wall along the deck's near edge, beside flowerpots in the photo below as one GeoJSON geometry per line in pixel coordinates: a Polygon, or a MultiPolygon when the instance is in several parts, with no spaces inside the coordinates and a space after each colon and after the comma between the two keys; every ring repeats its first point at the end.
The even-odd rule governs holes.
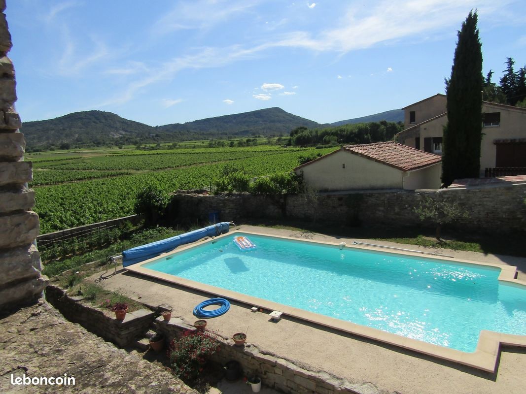
{"type": "MultiPolygon", "coordinates": [[[[155,312],[139,309],[126,314],[119,322],[113,313],[99,310],[85,303],[82,297],[70,297],[65,291],[54,285],[46,287],[46,300],[60,311],[70,322],[78,323],[88,331],[97,334],[114,344],[124,347],[144,336],[149,328],[165,337],[165,348],[174,338],[179,338],[187,330],[195,330],[182,319],[174,317],[166,322],[162,316],[157,318],[155,312]]],[[[158,308],[162,308],[159,306],[158,308]]],[[[158,314],[157,314],[158,315],[158,314]]],[[[391,394],[379,390],[372,383],[356,384],[326,372],[315,372],[301,368],[279,356],[264,354],[257,346],[246,343],[234,344],[231,338],[216,335],[220,350],[212,359],[221,365],[228,361],[239,362],[243,376],[258,376],[262,384],[284,393],[312,394],[391,394]]]]}

